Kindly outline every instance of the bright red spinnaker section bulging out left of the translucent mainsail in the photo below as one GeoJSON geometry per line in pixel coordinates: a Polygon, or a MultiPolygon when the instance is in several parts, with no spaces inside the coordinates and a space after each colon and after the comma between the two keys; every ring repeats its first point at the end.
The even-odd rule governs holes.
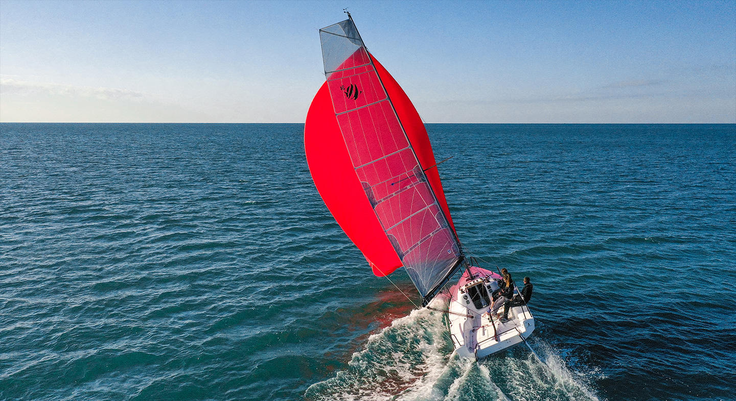
{"type": "Polygon", "coordinates": [[[401,267],[391,242],[358,176],[335,118],[328,83],[314,96],[304,127],[304,150],[314,185],[330,213],[350,240],[358,246],[373,273],[389,275],[401,267]]]}

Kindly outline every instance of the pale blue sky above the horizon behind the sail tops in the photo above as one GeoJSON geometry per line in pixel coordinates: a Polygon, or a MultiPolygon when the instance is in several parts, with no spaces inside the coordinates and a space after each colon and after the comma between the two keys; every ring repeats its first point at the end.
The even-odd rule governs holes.
{"type": "Polygon", "coordinates": [[[426,123],[736,123],[736,1],[0,0],[0,122],[302,123],[347,7],[426,123]]]}

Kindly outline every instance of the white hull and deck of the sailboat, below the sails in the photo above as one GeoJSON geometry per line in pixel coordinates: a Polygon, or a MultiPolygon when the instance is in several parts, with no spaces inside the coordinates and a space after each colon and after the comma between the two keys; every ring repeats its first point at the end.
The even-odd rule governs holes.
{"type": "MultiPolygon", "coordinates": [[[[455,352],[464,358],[480,359],[526,340],[534,331],[534,317],[527,306],[509,309],[509,320],[500,322],[489,317],[490,293],[497,288],[496,273],[478,267],[471,267],[472,275],[465,272],[456,286],[450,289],[452,299],[449,304],[450,337],[455,352]],[[485,286],[486,293],[481,296],[470,287],[478,289],[485,286]],[[473,297],[473,295],[476,295],[473,297]]],[[[501,297],[494,308],[503,314],[501,297]],[[500,306],[500,307],[499,307],[500,306]]]]}

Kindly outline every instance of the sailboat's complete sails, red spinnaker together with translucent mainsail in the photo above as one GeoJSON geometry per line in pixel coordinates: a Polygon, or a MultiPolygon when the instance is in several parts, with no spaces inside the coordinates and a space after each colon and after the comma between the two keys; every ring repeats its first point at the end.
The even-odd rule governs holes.
{"type": "Polygon", "coordinates": [[[425,296],[461,259],[425,126],[352,20],[320,35],[327,82],[304,135],[314,184],[375,275],[404,266],[425,296]]]}

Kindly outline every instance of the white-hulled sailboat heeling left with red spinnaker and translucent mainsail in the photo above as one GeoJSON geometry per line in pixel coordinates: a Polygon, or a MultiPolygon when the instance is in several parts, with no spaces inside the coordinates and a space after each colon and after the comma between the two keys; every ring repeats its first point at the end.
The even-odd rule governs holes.
{"type": "Polygon", "coordinates": [[[501,275],[466,256],[424,123],[346,13],[319,29],[326,80],[305,121],[319,195],[373,274],[403,267],[422,307],[446,314],[458,355],[477,360],[526,342],[531,311],[523,304],[508,320],[489,314],[501,275]]]}

